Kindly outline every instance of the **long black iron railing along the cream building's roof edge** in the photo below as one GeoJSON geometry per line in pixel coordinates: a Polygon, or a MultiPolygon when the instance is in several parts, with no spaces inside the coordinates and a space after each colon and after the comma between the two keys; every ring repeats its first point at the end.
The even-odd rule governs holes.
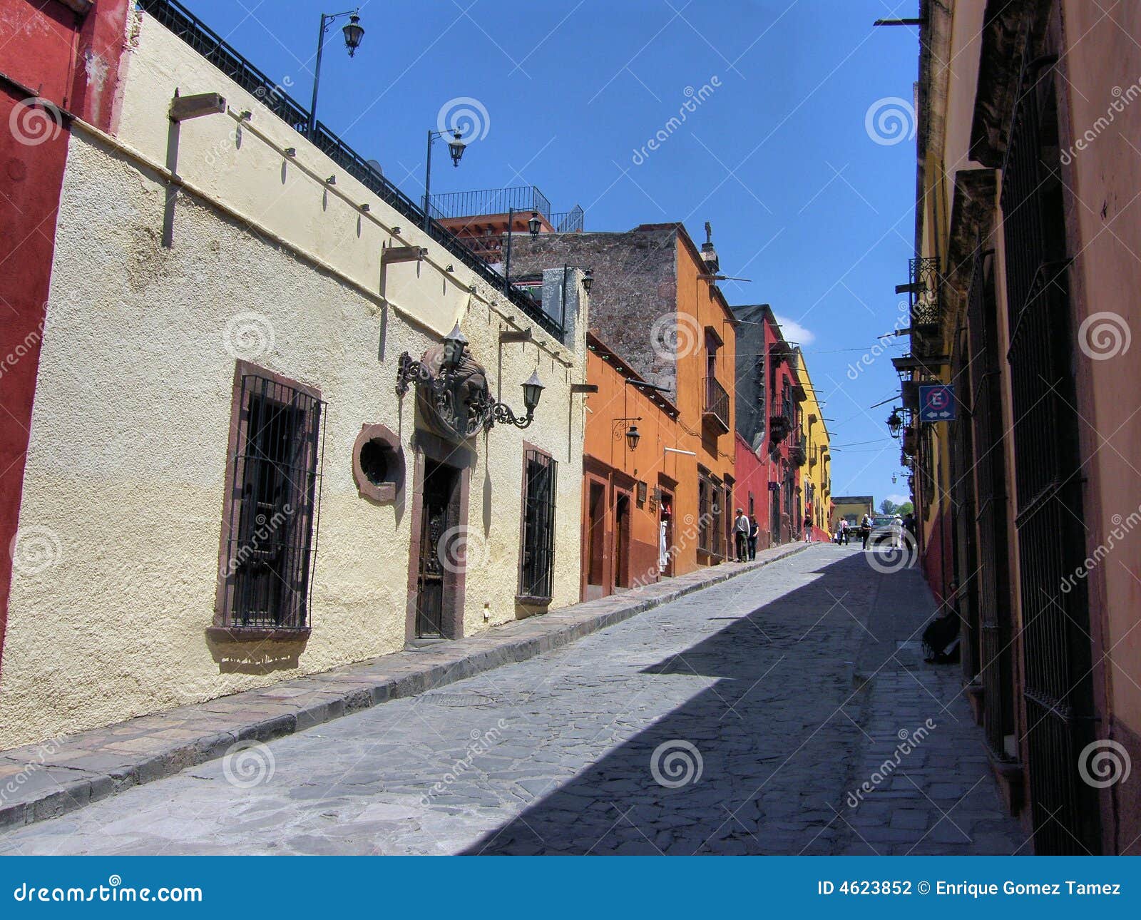
{"type": "MultiPolygon", "coordinates": [[[[136,0],[136,3],[139,9],[153,16],[156,22],[162,23],[242,89],[260,99],[266,108],[286,124],[301,134],[306,132],[306,126],[309,121],[308,110],[302,108],[278,83],[242,57],[186,7],[177,0],[136,0]]],[[[423,225],[422,209],[385,178],[378,167],[361,156],[319,121],[311,140],[322,153],[362,183],[381,201],[406,217],[413,225],[418,227],[423,225]]],[[[431,219],[428,221],[427,233],[493,288],[502,289],[502,275],[459,242],[451,231],[431,219]]],[[[548,332],[559,338],[563,337],[563,326],[542,309],[537,309],[528,296],[515,288],[504,291],[504,296],[548,332]]]]}

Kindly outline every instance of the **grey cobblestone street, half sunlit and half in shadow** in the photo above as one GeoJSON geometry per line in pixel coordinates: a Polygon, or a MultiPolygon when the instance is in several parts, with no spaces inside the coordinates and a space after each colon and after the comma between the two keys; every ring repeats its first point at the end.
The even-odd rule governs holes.
{"type": "Polygon", "coordinates": [[[8,833],[0,853],[1028,852],[958,665],[922,661],[919,571],[867,558],[812,547],[8,833]]]}

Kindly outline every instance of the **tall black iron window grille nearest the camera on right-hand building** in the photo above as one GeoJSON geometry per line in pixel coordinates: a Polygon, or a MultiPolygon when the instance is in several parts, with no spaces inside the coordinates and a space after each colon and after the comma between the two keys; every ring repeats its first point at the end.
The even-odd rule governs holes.
{"type": "Polygon", "coordinates": [[[1017,483],[1026,751],[1037,853],[1095,853],[1098,799],[1078,774],[1093,739],[1071,315],[1051,58],[1023,63],[1002,210],[1017,483]]]}

